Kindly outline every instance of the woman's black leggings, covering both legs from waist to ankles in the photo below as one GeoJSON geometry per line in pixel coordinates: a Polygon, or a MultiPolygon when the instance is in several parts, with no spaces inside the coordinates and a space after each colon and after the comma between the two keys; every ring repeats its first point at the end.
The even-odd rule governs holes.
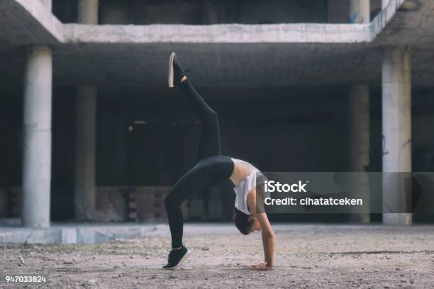
{"type": "Polygon", "coordinates": [[[172,234],[172,248],[182,246],[184,222],[181,203],[192,194],[229,179],[234,166],[230,157],[220,154],[220,130],[217,113],[206,104],[188,79],[183,81],[179,88],[189,101],[191,108],[199,115],[202,131],[196,165],[174,184],[165,198],[170,234],[172,234]]]}

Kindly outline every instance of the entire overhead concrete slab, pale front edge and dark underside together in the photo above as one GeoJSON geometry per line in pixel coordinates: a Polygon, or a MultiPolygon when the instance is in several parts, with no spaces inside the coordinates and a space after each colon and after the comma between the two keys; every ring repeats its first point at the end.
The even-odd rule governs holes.
{"type": "Polygon", "coordinates": [[[55,86],[166,86],[172,51],[191,68],[195,84],[210,88],[380,84],[382,47],[405,44],[413,47],[413,84],[432,86],[434,79],[432,0],[391,0],[367,25],[60,24],[61,29],[37,0],[3,1],[0,60],[7,68],[0,78],[22,77],[23,49],[17,44],[45,42],[53,48],[55,86]]]}

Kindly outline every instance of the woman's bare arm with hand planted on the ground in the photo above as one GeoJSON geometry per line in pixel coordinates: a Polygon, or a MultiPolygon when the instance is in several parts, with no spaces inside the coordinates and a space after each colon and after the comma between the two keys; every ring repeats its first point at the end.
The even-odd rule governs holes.
{"type": "Polygon", "coordinates": [[[265,262],[252,266],[257,270],[269,270],[274,265],[274,233],[271,225],[269,225],[267,214],[263,209],[263,204],[258,204],[261,208],[256,207],[256,188],[252,189],[247,195],[247,205],[250,212],[261,225],[262,245],[264,246],[265,262]],[[257,210],[259,209],[259,210],[257,210]]]}

